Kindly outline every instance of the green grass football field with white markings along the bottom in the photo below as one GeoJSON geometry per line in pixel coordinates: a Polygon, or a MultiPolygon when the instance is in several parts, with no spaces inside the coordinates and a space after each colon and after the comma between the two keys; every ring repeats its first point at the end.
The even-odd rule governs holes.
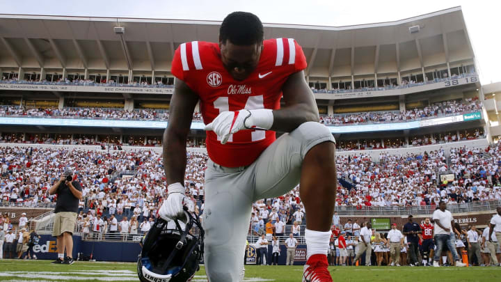
{"type": "MultiPolygon", "coordinates": [[[[0,281],[138,281],[134,263],[0,260],[0,281]]],[[[329,267],[334,281],[501,281],[501,267],[329,267]]],[[[300,266],[246,266],[244,281],[301,281],[300,266]]],[[[193,281],[207,281],[200,267],[193,281]]]]}

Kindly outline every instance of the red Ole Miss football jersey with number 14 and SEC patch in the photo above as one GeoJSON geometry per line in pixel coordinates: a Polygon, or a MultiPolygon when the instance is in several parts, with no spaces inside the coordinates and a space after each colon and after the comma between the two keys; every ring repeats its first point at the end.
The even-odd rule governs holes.
{"type": "MultiPolygon", "coordinates": [[[[257,68],[244,81],[234,80],[224,68],[216,43],[186,42],[176,49],[171,71],[200,96],[206,125],[223,111],[280,108],[283,84],[306,68],[306,58],[292,38],[264,40],[263,45],[257,68]]],[[[207,152],[221,166],[248,166],[275,139],[271,130],[241,130],[221,144],[216,134],[208,131],[207,152]]]]}

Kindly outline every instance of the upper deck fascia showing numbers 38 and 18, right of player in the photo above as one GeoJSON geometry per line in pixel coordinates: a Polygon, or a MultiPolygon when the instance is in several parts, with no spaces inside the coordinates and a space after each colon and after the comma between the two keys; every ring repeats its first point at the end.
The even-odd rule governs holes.
{"type": "Polygon", "coordinates": [[[408,84],[408,87],[397,89],[385,89],[381,91],[353,91],[353,92],[340,92],[340,93],[315,93],[316,99],[322,100],[338,100],[338,99],[353,99],[353,98],[367,98],[367,97],[384,97],[395,95],[407,95],[423,91],[433,91],[442,88],[449,88],[470,83],[479,82],[477,76],[452,78],[447,81],[431,82],[427,84],[408,84]]]}

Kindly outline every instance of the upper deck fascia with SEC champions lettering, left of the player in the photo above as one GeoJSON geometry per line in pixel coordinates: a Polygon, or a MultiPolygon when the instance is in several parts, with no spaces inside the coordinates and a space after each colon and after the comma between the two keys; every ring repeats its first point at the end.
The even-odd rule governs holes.
{"type": "Polygon", "coordinates": [[[120,87],[120,86],[80,86],[80,85],[44,85],[44,84],[0,84],[0,90],[21,91],[61,91],[92,93],[138,93],[138,94],[172,94],[174,88],[154,87],[120,87]]]}

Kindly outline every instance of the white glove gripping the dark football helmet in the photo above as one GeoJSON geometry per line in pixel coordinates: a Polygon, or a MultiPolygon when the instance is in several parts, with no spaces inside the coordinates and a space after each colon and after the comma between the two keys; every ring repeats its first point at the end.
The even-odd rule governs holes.
{"type": "Polygon", "coordinates": [[[190,198],[186,197],[184,194],[184,187],[180,182],[168,185],[167,187],[168,196],[164,200],[159,210],[159,216],[169,221],[171,219],[177,219],[184,217],[183,206],[186,205],[190,212],[195,210],[195,204],[190,198]]]}

